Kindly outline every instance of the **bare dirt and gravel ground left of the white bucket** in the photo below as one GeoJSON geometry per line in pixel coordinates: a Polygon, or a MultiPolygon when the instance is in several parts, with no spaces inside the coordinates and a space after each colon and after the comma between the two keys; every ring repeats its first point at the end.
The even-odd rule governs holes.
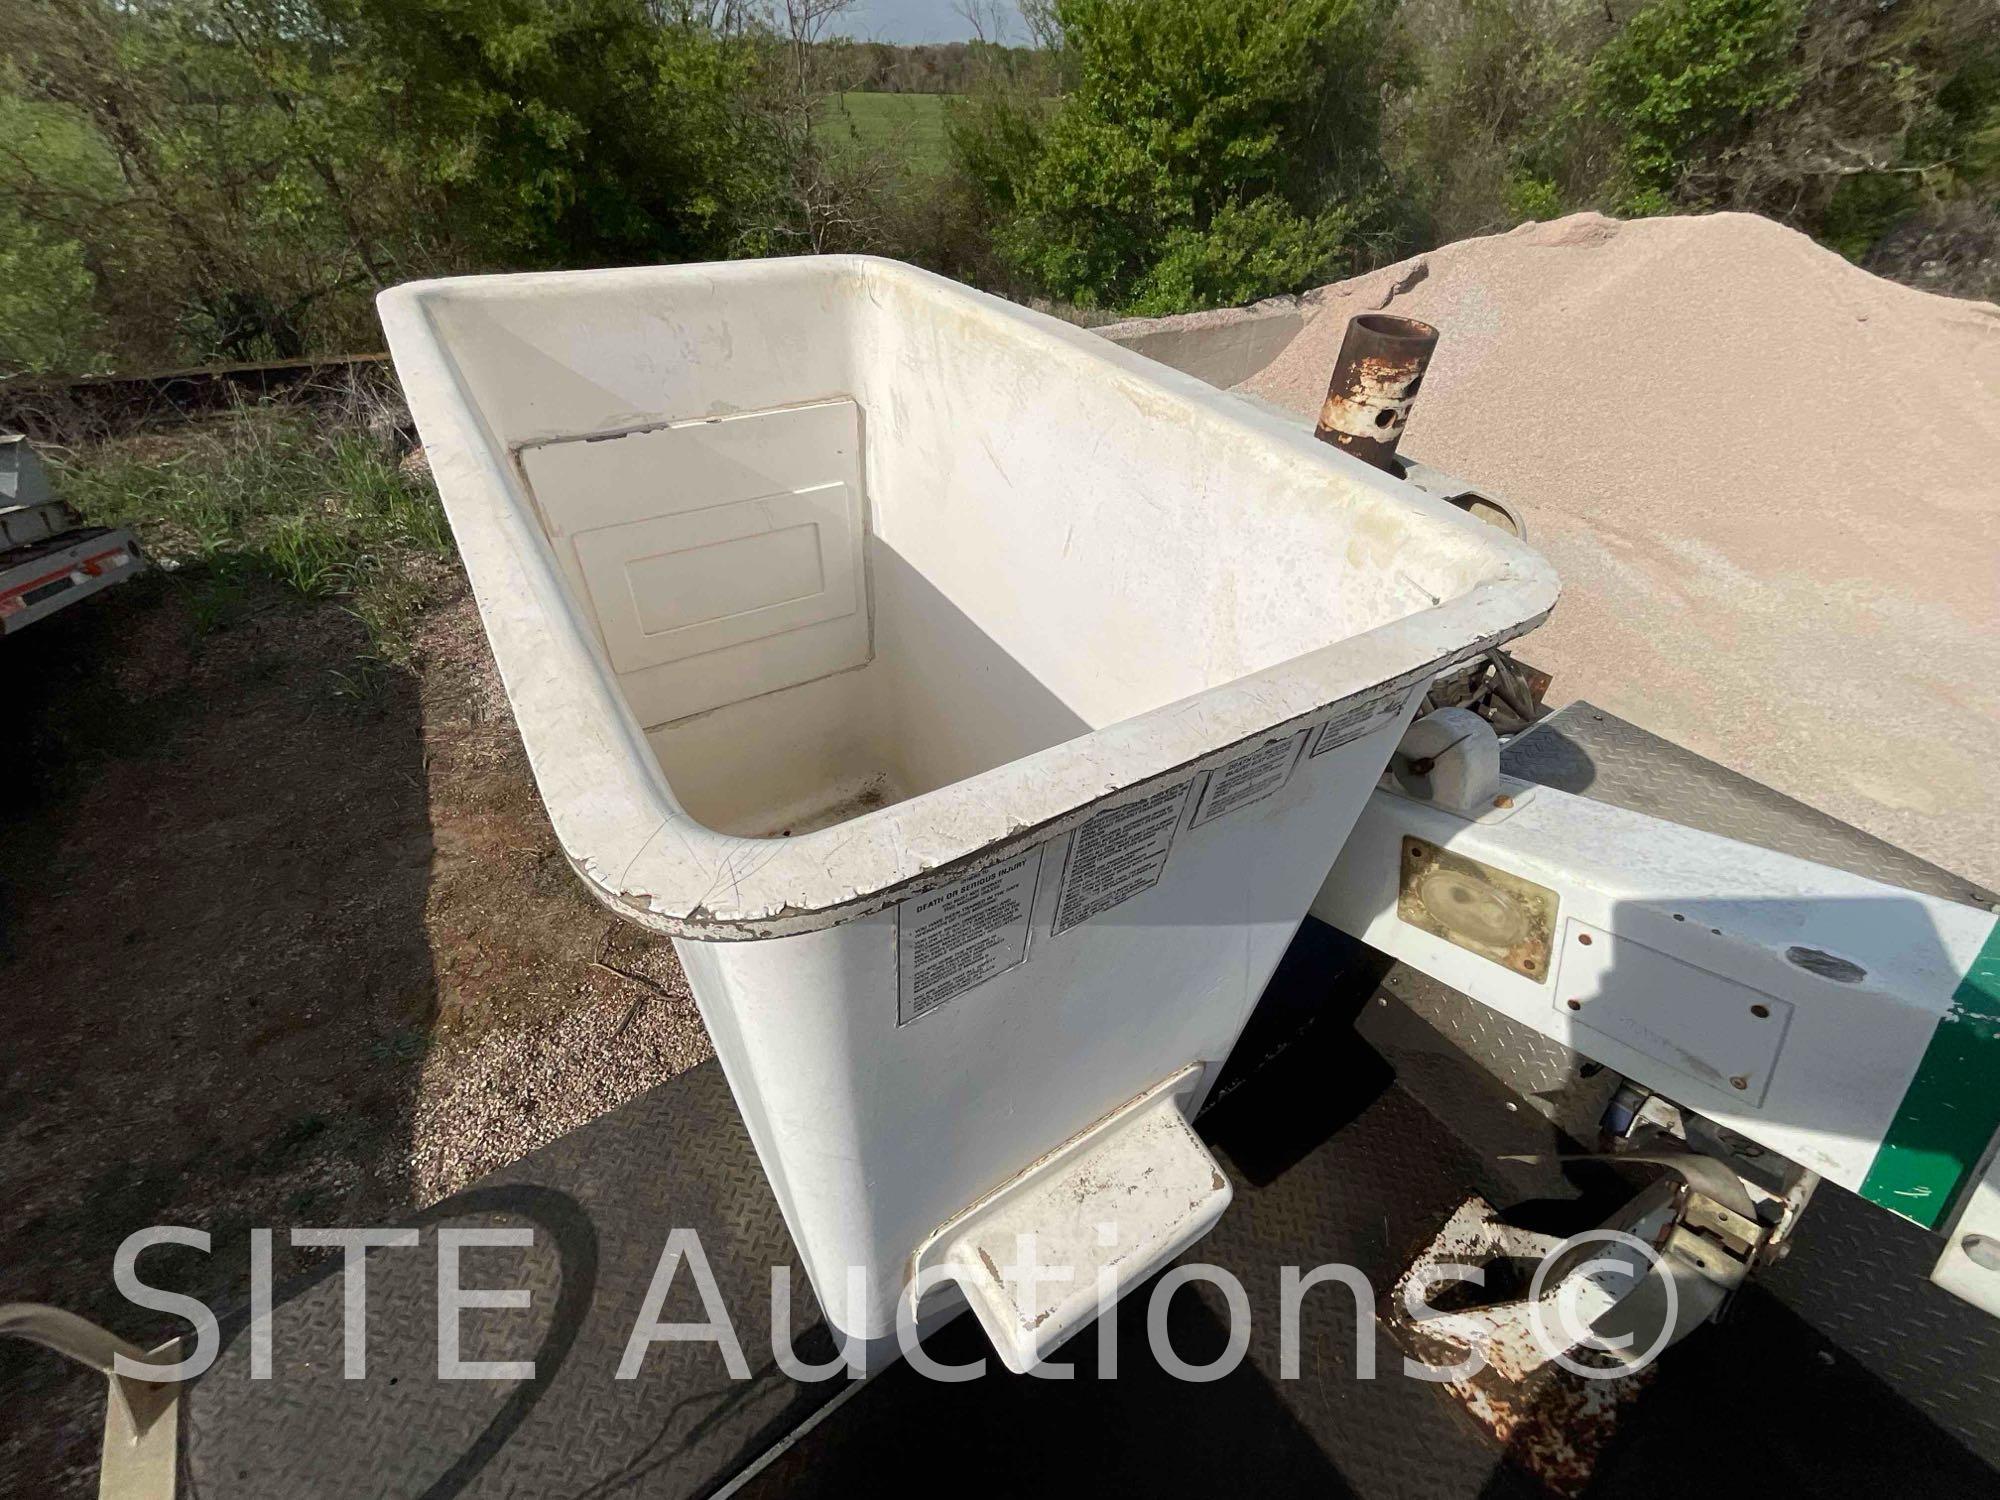
{"type": "MultiPolygon", "coordinates": [[[[240,1296],[252,1226],[392,1224],[708,1056],[672,948],[556,848],[478,614],[356,690],[358,622],[154,574],[0,642],[0,1302],[240,1296]]],[[[304,1266],[278,1242],[280,1280],[304,1266]]],[[[104,1386],[0,1346],[0,1494],[94,1494],[104,1386]]]]}

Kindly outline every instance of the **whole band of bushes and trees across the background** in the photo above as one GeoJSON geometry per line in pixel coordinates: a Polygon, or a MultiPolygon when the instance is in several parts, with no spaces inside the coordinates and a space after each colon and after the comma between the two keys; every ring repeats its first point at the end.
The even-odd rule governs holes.
{"type": "Polygon", "coordinates": [[[1022,8],[1036,50],[950,54],[920,178],[826,128],[842,66],[900,68],[840,0],[0,0],[0,376],[370,348],[420,274],[796,250],[1170,312],[1576,208],[1994,290],[2000,0],[1022,8]]]}

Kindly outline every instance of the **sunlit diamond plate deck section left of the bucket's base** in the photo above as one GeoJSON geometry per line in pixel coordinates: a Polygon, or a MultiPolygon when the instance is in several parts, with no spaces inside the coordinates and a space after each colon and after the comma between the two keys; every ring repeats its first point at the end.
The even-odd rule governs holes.
{"type": "MultiPolygon", "coordinates": [[[[342,1280],[286,1288],[272,1378],[248,1378],[242,1314],[184,1402],[184,1496],[694,1496],[840,1390],[798,1384],[770,1348],[770,1266],[794,1268],[798,1352],[824,1360],[792,1242],[722,1080],[708,1062],[408,1220],[418,1248],[368,1254],[368,1370],[342,1378],[342,1280]],[[438,1254],[446,1226],[530,1226],[534,1248],[466,1250],[460,1284],[524,1286],[528,1310],[470,1310],[466,1360],[534,1360],[534,1380],[438,1380],[438,1254]],[[616,1378],[674,1226],[698,1228],[750,1380],[708,1342],[654,1344],[616,1378]]],[[[666,1318],[702,1320],[686,1268],[666,1318]]]]}

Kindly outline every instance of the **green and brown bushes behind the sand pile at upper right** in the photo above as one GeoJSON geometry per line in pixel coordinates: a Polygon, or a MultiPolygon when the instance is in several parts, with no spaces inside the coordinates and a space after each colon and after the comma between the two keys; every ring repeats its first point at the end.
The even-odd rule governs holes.
{"type": "Polygon", "coordinates": [[[1844,254],[2000,228],[2000,0],[1056,0],[1060,104],[978,106],[1002,278],[1178,312],[1578,208],[1746,208],[1844,254]],[[1614,8],[1616,6],[1616,8],[1614,8]],[[1924,240],[1898,234],[1944,224],[1924,240]]]}

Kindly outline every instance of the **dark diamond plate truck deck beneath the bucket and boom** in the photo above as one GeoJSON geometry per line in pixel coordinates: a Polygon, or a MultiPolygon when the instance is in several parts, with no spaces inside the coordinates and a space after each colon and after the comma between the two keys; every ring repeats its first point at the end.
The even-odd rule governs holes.
{"type": "MultiPolygon", "coordinates": [[[[1508,756],[1514,774],[1586,796],[1634,798],[1624,806],[1698,826],[1726,814],[1738,822],[1718,832],[1758,828],[1756,842],[1774,848],[1970,892],[1920,884],[1952,878],[1588,706],[1564,710],[1508,756]],[[1786,832],[1794,818],[1806,834],[1786,832]]],[[[1202,1116],[1236,1202],[1190,1258],[1248,1292],[1252,1332],[1236,1372],[1214,1384],[1162,1374],[1144,1326],[1150,1288],[1140,1288],[1118,1316],[1116,1380],[1100,1378],[1094,1328],[1060,1354],[1078,1364],[1068,1382],[990,1362],[976,1382],[936,1384],[892,1366],[742,1492],[1534,1494],[1450,1398],[1400,1374],[1402,1354],[1386,1340],[1372,1350],[1378,1378],[1356,1378],[1358,1318],[1342,1286],[1306,1296],[1298,1378],[1284,1374],[1284,1264],[1348,1262],[1386,1288],[1470,1192],[1538,1204],[1558,1232],[1594,1222],[1572,1180],[1496,1158],[1550,1152],[1558,1126],[1586,1132],[1604,1084],[1574,1054],[1510,1034],[1416,978],[1308,924],[1202,1116]]],[[[222,1360],[184,1402],[182,1494],[702,1496],[848,1388],[792,1382],[774,1366],[766,1276],[794,1266],[794,1254],[714,1064],[410,1222],[420,1248],[368,1258],[366,1380],[340,1374],[336,1270],[280,1292],[268,1382],[246,1378],[242,1314],[226,1320],[222,1360]],[[462,1354],[532,1358],[528,1382],[436,1380],[436,1232],[480,1224],[534,1226],[536,1244],[468,1252],[464,1284],[526,1286],[534,1302],[468,1312],[462,1354]],[[616,1380],[674,1226],[700,1230],[750,1380],[730,1380],[706,1342],[656,1344],[636,1380],[616,1380]]],[[[1990,1500],[2000,1492],[2000,1338],[1924,1280],[1932,1244],[1848,1194],[1822,1194],[1792,1260],[1752,1286],[1726,1326],[1668,1356],[1592,1492],[1628,1500],[1742,1478],[1778,1492],[1916,1484],[1990,1500]]],[[[796,1268],[794,1288],[800,1354],[826,1358],[830,1340],[796,1268]]],[[[702,1316],[686,1270],[666,1316],[702,1316]]],[[[1226,1338],[1220,1294],[1182,1288],[1166,1328],[1182,1358],[1212,1358],[1226,1338]]],[[[940,1360],[984,1352],[968,1318],[930,1348],[940,1360]]]]}

